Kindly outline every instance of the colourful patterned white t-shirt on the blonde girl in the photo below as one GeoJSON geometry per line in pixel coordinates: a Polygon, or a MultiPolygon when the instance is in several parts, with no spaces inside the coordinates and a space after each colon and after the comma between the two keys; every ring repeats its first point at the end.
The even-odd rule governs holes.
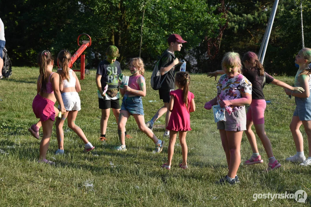
{"type": "MultiPolygon", "coordinates": [[[[217,84],[217,104],[220,105],[220,101],[233,100],[242,98],[242,93],[252,94],[252,83],[249,82],[244,75],[239,74],[232,78],[229,78],[227,74],[220,76],[217,84]]],[[[232,111],[239,111],[244,106],[232,106],[232,111]]]]}

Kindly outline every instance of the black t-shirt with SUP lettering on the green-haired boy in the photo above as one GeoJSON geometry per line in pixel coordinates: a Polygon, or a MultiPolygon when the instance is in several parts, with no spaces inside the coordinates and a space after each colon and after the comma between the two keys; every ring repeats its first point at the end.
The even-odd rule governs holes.
{"type": "Polygon", "coordinates": [[[106,84],[108,84],[108,88],[118,87],[118,74],[122,73],[118,61],[111,64],[106,60],[101,61],[97,67],[96,73],[101,75],[100,83],[102,88],[104,88],[106,84]]]}

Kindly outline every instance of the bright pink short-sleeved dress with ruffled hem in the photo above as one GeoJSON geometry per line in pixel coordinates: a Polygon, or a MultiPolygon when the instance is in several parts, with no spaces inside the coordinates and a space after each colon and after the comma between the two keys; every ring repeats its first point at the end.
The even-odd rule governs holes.
{"type": "MultiPolygon", "coordinates": [[[[169,124],[166,127],[168,130],[173,131],[190,131],[190,113],[183,103],[183,90],[177,89],[169,93],[170,96],[174,96],[174,106],[169,117],[169,124]]],[[[194,98],[192,92],[188,92],[188,108],[190,107],[190,101],[194,98]]]]}

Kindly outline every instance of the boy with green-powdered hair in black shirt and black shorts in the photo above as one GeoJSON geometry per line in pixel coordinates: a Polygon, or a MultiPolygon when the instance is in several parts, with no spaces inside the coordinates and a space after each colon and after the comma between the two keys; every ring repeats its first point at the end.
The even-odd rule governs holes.
{"type": "MultiPolygon", "coordinates": [[[[118,123],[120,113],[120,93],[118,89],[118,75],[122,73],[120,63],[116,61],[119,55],[118,47],[110,45],[106,50],[107,58],[100,62],[96,72],[96,85],[98,88],[98,103],[101,109],[100,141],[106,141],[106,129],[110,108],[118,123]],[[108,84],[108,90],[103,94],[104,87],[108,84]]],[[[130,138],[129,135],[127,135],[130,138]]]]}

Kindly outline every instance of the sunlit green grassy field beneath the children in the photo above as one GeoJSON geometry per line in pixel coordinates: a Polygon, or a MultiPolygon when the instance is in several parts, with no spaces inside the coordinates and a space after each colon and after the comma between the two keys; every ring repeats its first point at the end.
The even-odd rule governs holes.
{"type": "MultiPolygon", "coordinates": [[[[129,75],[129,70],[124,70],[129,75]]],[[[54,155],[57,150],[55,127],[47,159],[56,167],[38,164],[39,141],[27,128],[37,122],[32,111],[36,94],[38,68],[14,67],[10,79],[0,80],[0,206],[304,206],[311,204],[311,169],[287,163],[285,158],[295,154],[289,124],[295,109],[294,99],[289,99],[283,89],[266,85],[266,133],[271,139],[275,157],[281,168],[266,173],[267,155],[258,142],[263,164],[241,164],[237,185],[216,185],[225,176],[225,153],[212,111],[204,103],[216,96],[216,82],[206,74],[191,74],[190,91],[195,95],[197,110],[191,114],[192,131],[187,134],[189,169],[179,169],[182,159],[179,141],[176,141],[172,169],[161,169],[167,160],[167,145],[161,154],[153,154],[153,142],[137,127],[133,117],[126,125],[132,139],[126,139],[128,151],[114,151],[118,145],[116,120],[110,114],[106,143],[98,140],[100,115],[96,94],[95,70],[82,80],[82,110],[76,124],[95,146],[92,153],[84,154],[83,142],[64,126],[65,155],[54,155]],[[306,203],[295,199],[258,199],[254,193],[295,193],[304,190],[306,203]]],[[[79,76],[80,73],[77,73],[79,76]]],[[[146,72],[150,80],[151,72],[146,72]]],[[[277,79],[292,84],[294,77],[277,79]]],[[[157,91],[147,82],[147,95],[143,97],[145,119],[150,120],[163,103],[157,91]]],[[[162,139],[165,117],[154,128],[162,139]]],[[[304,129],[303,135],[306,135],[304,129]]],[[[40,129],[42,135],[42,131],[40,129]]],[[[258,139],[259,140],[259,139],[258,139]]],[[[167,141],[167,140],[166,140],[167,141]]],[[[168,142],[167,142],[168,143],[168,142]]],[[[304,142],[308,155],[308,142],[304,142]]],[[[242,163],[251,155],[251,147],[244,134],[241,145],[242,163]]]]}

